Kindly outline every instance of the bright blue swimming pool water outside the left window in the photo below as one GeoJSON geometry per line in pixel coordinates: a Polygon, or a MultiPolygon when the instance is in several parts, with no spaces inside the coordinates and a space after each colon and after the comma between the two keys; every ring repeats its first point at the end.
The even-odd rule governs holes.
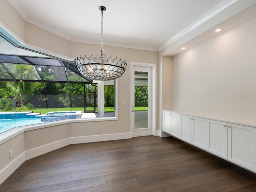
{"type": "Polygon", "coordinates": [[[12,128],[41,123],[41,118],[0,119],[0,133],[12,128]]]}

